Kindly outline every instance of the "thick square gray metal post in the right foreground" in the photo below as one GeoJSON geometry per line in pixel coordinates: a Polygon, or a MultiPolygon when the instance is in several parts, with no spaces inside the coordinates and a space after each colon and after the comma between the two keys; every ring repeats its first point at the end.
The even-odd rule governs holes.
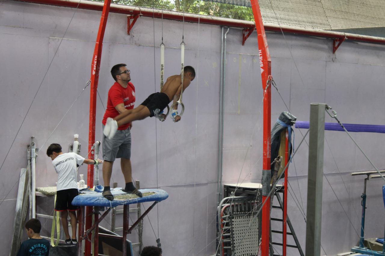
{"type": "Polygon", "coordinates": [[[325,103],[310,104],[306,256],[320,256],[325,103]]]}

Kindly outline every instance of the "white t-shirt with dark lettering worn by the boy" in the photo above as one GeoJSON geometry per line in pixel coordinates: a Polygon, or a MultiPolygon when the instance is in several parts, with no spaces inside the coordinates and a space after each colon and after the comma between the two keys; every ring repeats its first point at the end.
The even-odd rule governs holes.
{"type": "Polygon", "coordinates": [[[75,154],[74,152],[58,155],[52,164],[57,172],[57,191],[76,188],[77,189],[77,172],[76,164],[82,165],[84,157],[75,154]]]}

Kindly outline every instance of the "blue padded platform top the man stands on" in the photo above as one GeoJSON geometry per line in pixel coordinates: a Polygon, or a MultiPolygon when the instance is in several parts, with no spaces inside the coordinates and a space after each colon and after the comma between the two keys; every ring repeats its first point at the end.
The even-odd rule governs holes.
{"type": "MultiPolygon", "coordinates": [[[[119,195],[132,195],[124,193],[122,188],[114,188],[111,189],[112,195],[114,197],[119,195]]],[[[100,190],[97,190],[100,191],[100,190]]],[[[129,198],[129,199],[114,199],[112,201],[107,200],[102,196],[101,192],[97,191],[91,191],[91,190],[85,190],[81,191],[82,194],[79,194],[72,200],[72,205],[77,206],[105,206],[105,207],[115,207],[118,205],[131,205],[134,203],[143,203],[143,202],[150,202],[150,201],[157,201],[160,202],[162,200],[165,200],[168,197],[168,193],[161,189],[139,189],[142,194],[153,192],[154,194],[151,195],[144,195],[143,197],[135,197],[129,198]]]]}

